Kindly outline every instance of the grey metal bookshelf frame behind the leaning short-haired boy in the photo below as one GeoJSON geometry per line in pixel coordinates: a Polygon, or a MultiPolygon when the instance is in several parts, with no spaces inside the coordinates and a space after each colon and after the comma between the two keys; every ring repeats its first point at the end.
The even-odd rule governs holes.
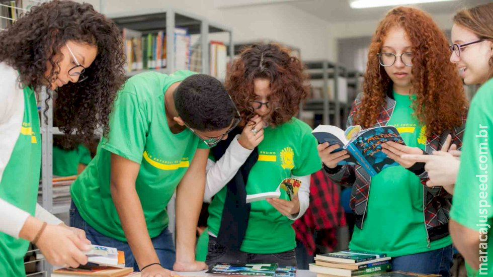
{"type": "MultiPolygon", "coordinates": [[[[209,74],[209,33],[227,32],[229,34],[229,53],[233,51],[233,32],[231,28],[222,24],[211,22],[205,17],[194,15],[176,9],[152,9],[131,13],[110,14],[119,28],[128,28],[144,34],[166,32],[166,55],[169,61],[175,60],[175,28],[186,28],[190,35],[200,35],[202,50],[202,73],[209,74]]],[[[230,56],[230,58],[232,58],[230,56]]],[[[156,69],[163,73],[175,71],[174,62],[168,62],[166,68],[156,69]]],[[[156,71],[154,69],[131,71],[129,75],[135,75],[145,71],[156,71]]]]}

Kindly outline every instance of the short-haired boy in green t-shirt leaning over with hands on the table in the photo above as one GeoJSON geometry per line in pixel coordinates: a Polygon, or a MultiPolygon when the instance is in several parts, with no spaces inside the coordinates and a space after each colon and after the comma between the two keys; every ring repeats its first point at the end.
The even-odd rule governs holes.
{"type": "Polygon", "coordinates": [[[195,261],[209,147],[239,122],[217,79],[146,72],[119,91],[110,132],[71,185],[70,224],[95,244],[125,252],[144,276],[207,268],[195,261]],[[166,207],[176,198],[176,252],[166,207]],[[176,257],[176,259],[175,259],[176,257]]]}

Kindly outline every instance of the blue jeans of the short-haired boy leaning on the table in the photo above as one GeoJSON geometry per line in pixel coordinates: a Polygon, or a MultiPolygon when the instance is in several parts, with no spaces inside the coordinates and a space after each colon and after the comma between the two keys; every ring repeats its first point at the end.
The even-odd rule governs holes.
{"type": "MultiPolygon", "coordinates": [[[[75,207],[73,202],[70,204],[70,226],[84,230],[86,232],[86,237],[92,244],[114,247],[118,250],[124,251],[125,266],[133,267],[134,271],[140,271],[128,243],[107,237],[96,231],[82,217],[80,217],[77,207],[75,207]]],[[[157,237],[152,238],[151,241],[161,266],[173,270],[176,252],[175,245],[173,243],[173,235],[170,233],[168,228],[163,230],[157,237]]]]}

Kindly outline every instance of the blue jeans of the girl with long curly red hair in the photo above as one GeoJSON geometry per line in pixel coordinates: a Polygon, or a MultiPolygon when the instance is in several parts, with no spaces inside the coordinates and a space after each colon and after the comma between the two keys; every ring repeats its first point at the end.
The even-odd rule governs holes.
{"type": "Polygon", "coordinates": [[[454,264],[452,245],[437,250],[392,258],[392,271],[441,274],[450,276],[454,264]]]}

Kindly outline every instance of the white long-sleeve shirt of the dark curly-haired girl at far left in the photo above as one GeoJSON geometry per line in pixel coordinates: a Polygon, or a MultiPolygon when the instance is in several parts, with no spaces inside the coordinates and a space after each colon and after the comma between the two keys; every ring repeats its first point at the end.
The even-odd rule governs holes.
{"type": "MultiPolygon", "coordinates": [[[[9,163],[12,151],[21,133],[24,117],[24,91],[17,81],[19,74],[11,66],[0,63],[0,183],[9,163]]],[[[29,170],[38,170],[31,168],[29,170]]],[[[30,174],[31,172],[25,172],[30,174]]],[[[2,184],[15,186],[16,184],[2,184]]],[[[0,232],[19,238],[29,213],[0,198],[0,232]]],[[[36,205],[35,217],[49,224],[60,224],[61,220],[36,205]]]]}

